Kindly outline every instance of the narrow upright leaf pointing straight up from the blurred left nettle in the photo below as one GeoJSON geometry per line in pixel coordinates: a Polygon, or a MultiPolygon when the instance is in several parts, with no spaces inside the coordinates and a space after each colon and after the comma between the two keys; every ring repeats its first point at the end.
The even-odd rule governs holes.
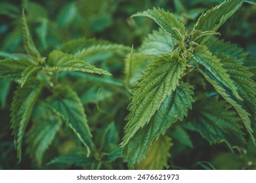
{"type": "Polygon", "coordinates": [[[35,47],[35,44],[33,43],[33,39],[30,35],[30,30],[28,29],[28,24],[27,24],[24,10],[22,12],[22,24],[23,24],[25,50],[26,50],[27,54],[29,54],[30,56],[33,56],[37,59],[41,58],[41,55],[37,51],[37,48],[35,47]]]}

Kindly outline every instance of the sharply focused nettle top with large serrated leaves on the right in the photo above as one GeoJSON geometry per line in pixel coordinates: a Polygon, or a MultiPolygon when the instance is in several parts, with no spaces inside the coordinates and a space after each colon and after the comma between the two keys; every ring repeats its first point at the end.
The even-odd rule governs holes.
{"type": "MultiPolygon", "coordinates": [[[[251,80],[253,74],[249,73],[247,67],[236,58],[218,51],[211,52],[207,47],[211,35],[219,35],[217,29],[242,6],[242,3],[244,1],[226,0],[221,5],[207,10],[190,32],[186,31],[182,22],[171,12],[165,12],[161,8],[153,8],[133,15],[133,17],[147,16],[163,30],[154,31],[143,42],[140,53],[134,53],[132,50],[126,60],[125,73],[131,80],[138,78],[138,75],[133,75],[133,70],[144,67],[143,57],[149,64],[133,89],[134,95],[128,107],[130,113],[126,118],[129,122],[125,126],[125,135],[121,143],[123,156],[130,167],[142,157],[145,158],[148,146],[164,134],[171,124],[177,120],[182,121],[184,116],[187,116],[188,108],[192,108],[192,103],[195,101],[193,95],[200,101],[198,94],[192,92],[194,82],[191,82],[192,86],[186,83],[189,81],[190,73],[194,75],[201,73],[219,95],[236,109],[251,139],[255,141],[253,131],[256,130],[256,84],[251,80]]],[[[198,76],[200,78],[198,82],[201,76],[198,76]]],[[[216,102],[217,100],[219,99],[214,99],[216,102]]],[[[231,122],[232,115],[236,113],[230,113],[230,108],[226,106],[224,101],[219,105],[211,106],[213,111],[219,110],[219,107],[223,108],[228,115],[224,116],[221,113],[222,116],[219,117],[217,117],[219,114],[216,114],[216,117],[211,116],[209,108],[202,108],[202,113],[199,112],[198,115],[202,114],[204,117],[198,117],[198,121],[192,125],[194,124],[198,131],[205,131],[204,123],[213,123],[211,125],[213,128],[207,128],[207,133],[213,135],[201,133],[205,139],[211,143],[226,141],[231,144],[230,146],[237,146],[240,145],[239,142],[244,142],[243,133],[236,117],[234,122],[231,122]],[[234,132],[233,135],[236,136],[234,138],[240,139],[236,141],[238,143],[228,141],[230,131],[234,132]]],[[[190,122],[192,121],[196,120],[190,119],[190,122]]],[[[161,139],[163,138],[158,141],[161,139]]],[[[165,141],[165,143],[171,142],[165,141]]],[[[171,147],[171,145],[165,146],[171,147]]],[[[163,168],[164,165],[163,163],[158,168],[163,168]]]]}

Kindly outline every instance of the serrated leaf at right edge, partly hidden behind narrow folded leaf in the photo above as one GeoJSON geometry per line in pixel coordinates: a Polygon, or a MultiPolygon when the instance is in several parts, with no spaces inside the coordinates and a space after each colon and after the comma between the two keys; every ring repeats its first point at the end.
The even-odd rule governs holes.
{"type": "Polygon", "coordinates": [[[234,80],[234,84],[236,84],[238,93],[242,97],[243,101],[238,100],[230,91],[230,88],[224,86],[219,82],[219,80],[217,80],[217,78],[215,78],[215,76],[211,75],[211,73],[208,71],[202,71],[201,69],[200,72],[213,85],[215,90],[217,90],[217,92],[236,109],[240,118],[244,122],[245,128],[251,136],[251,139],[255,142],[253,129],[256,131],[256,84],[250,79],[253,74],[247,71],[247,67],[244,67],[242,62],[235,61],[235,58],[225,56],[223,54],[218,54],[216,56],[221,59],[223,68],[226,69],[228,75],[230,75],[231,79],[234,80]],[[251,125],[253,125],[253,129],[251,128],[251,125]]]}

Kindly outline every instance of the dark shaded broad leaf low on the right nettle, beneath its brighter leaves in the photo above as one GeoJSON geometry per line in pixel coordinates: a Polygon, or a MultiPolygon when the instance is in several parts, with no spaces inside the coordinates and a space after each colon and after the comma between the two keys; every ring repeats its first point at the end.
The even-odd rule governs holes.
{"type": "Polygon", "coordinates": [[[245,144],[242,125],[231,106],[218,97],[202,97],[191,112],[192,125],[210,144],[226,142],[228,146],[245,144]]]}

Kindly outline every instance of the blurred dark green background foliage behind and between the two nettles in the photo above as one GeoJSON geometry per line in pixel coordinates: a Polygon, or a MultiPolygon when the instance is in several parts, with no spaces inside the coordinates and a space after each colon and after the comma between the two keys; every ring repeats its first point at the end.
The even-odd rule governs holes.
{"type": "MultiPolygon", "coordinates": [[[[24,153],[22,161],[17,163],[9,117],[12,95],[17,85],[0,78],[0,169],[127,169],[127,165],[120,158],[118,147],[123,137],[123,127],[126,123],[123,119],[127,116],[126,108],[131,96],[123,82],[123,60],[132,44],[138,48],[148,33],[158,29],[148,18],[130,16],[147,8],[162,7],[173,12],[188,29],[192,29],[203,10],[221,2],[223,1],[2,0],[0,58],[24,52],[22,8],[26,12],[35,45],[42,56],[47,56],[51,50],[62,48],[65,42],[79,37],[85,37],[87,44],[90,44],[88,40],[95,38],[97,41],[104,39],[125,46],[120,50],[117,48],[113,52],[100,52],[87,58],[87,61],[109,71],[114,77],[60,73],[60,78],[63,78],[61,82],[70,84],[78,93],[85,107],[95,144],[100,150],[91,159],[84,160],[82,165],[79,163],[79,157],[82,157],[83,150],[79,148],[74,134],[64,126],[60,126],[57,137],[43,156],[43,162],[34,161],[30,156],[28,140],[23,148],[28,148],[28,153],[24,153]],[[57,156],[62,156],[62,159],[53,159],[57,156]],[[51,159],[53,161],[48,163],[51,159]],[[63,163],[54,163],[57,160],[63,163]]],[[[221,27],[221,38],[242,46],[256,56],[255,17],[256,6],[245,3],[221,27]]],[[[72,45],[72,42],[69,44],[72,45]]],[[[37,118],[36,112],[32,118],[37,118]]],[[[256,148],[252,142],[245,147],[246,150],[238,148],[231,152],[224,143],[209,145],[200,134],[189,130],[188,125],[175,124],[173,129],[169,132],[173,146],[168,169],[256,169],[256,148]]]]}

